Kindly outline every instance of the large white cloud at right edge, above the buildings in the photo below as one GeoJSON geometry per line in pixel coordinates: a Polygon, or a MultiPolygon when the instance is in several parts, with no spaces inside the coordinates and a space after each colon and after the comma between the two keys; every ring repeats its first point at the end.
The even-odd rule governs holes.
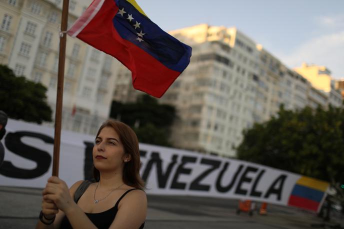
{"type": "Polygon", "coordinates": [[[312,63],[326,66],[334,78],[344,78],[344,30],[312,38],[291,54],[279,56],[289,67],[300,66],[302,62],[312,63]]]}

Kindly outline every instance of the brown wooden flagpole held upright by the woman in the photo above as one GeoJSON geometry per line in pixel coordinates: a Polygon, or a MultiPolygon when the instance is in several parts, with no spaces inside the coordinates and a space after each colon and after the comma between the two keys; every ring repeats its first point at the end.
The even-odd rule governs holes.
{"type": "Polygon", "coordinates": [[[66,30],[68,24],[68,6],[69,0],[63,0],[62,16],[61,16],[61,31],[59,33],[59,55],[58,55],[58,73],[57,73],[57,95],[56,95],[56,109],[55,109],[55,133],[54,133],[54,147],[52,159],[52,175],[58,176],[59,164],[59,146],[61,137],[61,117],[62,117],[62,101],[63,101],[63,78],[64,78],[64,60],[65,60],[65,46],[66,46],[66,30]]]}

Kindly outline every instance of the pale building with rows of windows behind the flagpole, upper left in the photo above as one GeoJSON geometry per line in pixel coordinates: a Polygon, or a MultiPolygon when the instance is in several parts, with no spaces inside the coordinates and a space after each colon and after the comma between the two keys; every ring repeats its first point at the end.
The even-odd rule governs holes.
{"type": "MultiPolygon", "coordinates": [[[[68,25],[91,0],[69,0],[68,25]]],[[[62,0],[0,0],[0,63],[41,82],[55,109],[62,0]]],[[[118,62],[67,36],[62,128],[94,133],[108,117],[118,62]],[[72,115],[72,110],[75,113],[72,115]]],[[[53,116],[54,118],[54,116],[53,116]]],[[[46,123],[53,124],[53,123],[46,123]]]]}

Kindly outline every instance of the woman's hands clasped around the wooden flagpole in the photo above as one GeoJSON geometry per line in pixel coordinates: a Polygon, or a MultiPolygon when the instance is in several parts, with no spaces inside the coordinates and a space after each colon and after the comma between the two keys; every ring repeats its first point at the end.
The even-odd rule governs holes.
{"type": "Polygon", "coordinates": [[[46,209],[45,212],[47,212],[47,214],[50,214],[48,212],[54,213],[54,207],[57,207],[58,209],[65,212],[73,206],[74,200],[71,198],[69,194],[69,190],[66,183],[63,180],[59,179],[57,176],[51,176],[48,179],[45,188],[43,189],[42,211],[43,204],[46,209]]]}

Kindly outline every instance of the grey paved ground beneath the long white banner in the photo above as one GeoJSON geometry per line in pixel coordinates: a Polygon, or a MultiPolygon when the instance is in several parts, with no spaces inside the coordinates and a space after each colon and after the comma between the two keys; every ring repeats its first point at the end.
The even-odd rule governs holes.
{"type": "MultiPolygon", "coordinates": [[[[34,228],[40,210],[41,189],[0,186],[0,229],[34,228]]],[[[341,223],[333,215],[326,227],[314,213],[297,208],[268,205],[268,215],[235,213],[237,200],[193,196],[148,195],[145,228],[317,228],[341,223]]]]}

